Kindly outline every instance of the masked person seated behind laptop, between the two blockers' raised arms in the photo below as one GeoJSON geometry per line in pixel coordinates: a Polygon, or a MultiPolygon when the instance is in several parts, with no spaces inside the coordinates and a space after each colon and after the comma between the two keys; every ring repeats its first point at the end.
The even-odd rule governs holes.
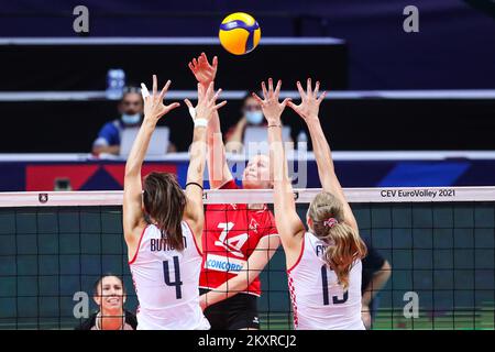
{"type": "MultiPolygon", "coordinates": [[[[242,153],[248,143],[260,142],[260,140],[263,140],[267,146],[268,135],[266,129],[260,129],[261,127],[266,128],[262,108],[251,94],[248,94],[242,106],[242,118],[226,134],[226,151],[229,153],[242,153]],[[245,139],[246,135],[253,136],[253,134],[256,134],[256,132],[253,134],[246,133],[246,131],[250,132],[250,129],[260,130],[263,136],[256,141],[248,141],[245,139]]],[[[288,133],[283,134],[290,135],[290,130],[288,128],[285,129],[288,130],[288,133]]],[[[292,141],[287,135],[283,135],[283,139],[285,142],[292,141]]],[[[267,151],[262,151],[262,153],[267,153],[267,151]]]]}

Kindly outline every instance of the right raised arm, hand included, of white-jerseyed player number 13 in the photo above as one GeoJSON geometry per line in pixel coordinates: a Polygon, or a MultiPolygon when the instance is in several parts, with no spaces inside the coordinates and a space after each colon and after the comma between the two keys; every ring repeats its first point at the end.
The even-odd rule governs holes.
{"type": "Polygon", "coordinates": [[[297,89],[299,90],[301,102],[299,105],[295,105],[290,101],[288,106],[296,111],[308,125],[309,135],[311,136],[312,142],[312,150],[318,165],[318,174],[320,176],[320,183],[323,190],[329,191],[339,198],[344,207],[345,222],[358,230],[358,222],[355,221],[354,215],[352,213],[351,207],[345,199],[342,187],[336,175],[330,145],[327,142],[323,130],[321,129],[320,119],[318,117],[320,103],[327,95],[327,92],[323,91],[320,97],[318,97],[319,88],[320,82],[317,81],[315,90],[312,90],[311,78],[308,78],[307,88],[305,91],[300,81],[298,81],[297,89]]]}

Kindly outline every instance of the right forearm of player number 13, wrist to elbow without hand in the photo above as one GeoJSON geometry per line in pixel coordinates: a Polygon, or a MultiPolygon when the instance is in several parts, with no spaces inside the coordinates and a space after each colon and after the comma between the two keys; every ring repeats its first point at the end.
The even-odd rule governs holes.
{"type": "Polygon", "coordinates": [[[321,184],[323,188],[330,188],[331,177],[336,174],[330,145],[318,118],[307,119],[307,125],[321,184]]]}

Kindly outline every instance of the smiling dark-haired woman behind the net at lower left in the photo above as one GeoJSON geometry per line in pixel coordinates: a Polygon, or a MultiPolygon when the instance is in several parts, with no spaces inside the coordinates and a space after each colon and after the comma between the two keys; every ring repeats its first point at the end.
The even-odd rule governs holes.
{"type": "Polygon", "coordinates": [[[77,330],[135,330],[135,316],[124,309],[125,287],[120,277],[106,274],[94,288],[94,299],[99,309],[84,321],[77,330]]]}

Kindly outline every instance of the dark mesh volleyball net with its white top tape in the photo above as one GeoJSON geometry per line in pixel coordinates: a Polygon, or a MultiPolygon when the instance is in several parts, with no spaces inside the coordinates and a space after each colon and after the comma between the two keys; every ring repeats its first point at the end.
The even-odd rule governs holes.
{"type": "MultiPolygon", "coordinates": [[[[304,222],[319,191],[295,189],[304,222]]],[[[494,329],[495,187],[345,194],[362,238],[391,265],[371,305],[373,329],[494,329]]],[[[273,193],[206,190],[205,204],[273,209],[273,193]]],[[[98,308],[94,285],[106,273],[122,277],[135,311],[121,191],[0,194],[0,329],[78,327],[98,308]]],[[[260,274],[262,329],[293,329],[285,273],[280,248],[260,274]]]]}

